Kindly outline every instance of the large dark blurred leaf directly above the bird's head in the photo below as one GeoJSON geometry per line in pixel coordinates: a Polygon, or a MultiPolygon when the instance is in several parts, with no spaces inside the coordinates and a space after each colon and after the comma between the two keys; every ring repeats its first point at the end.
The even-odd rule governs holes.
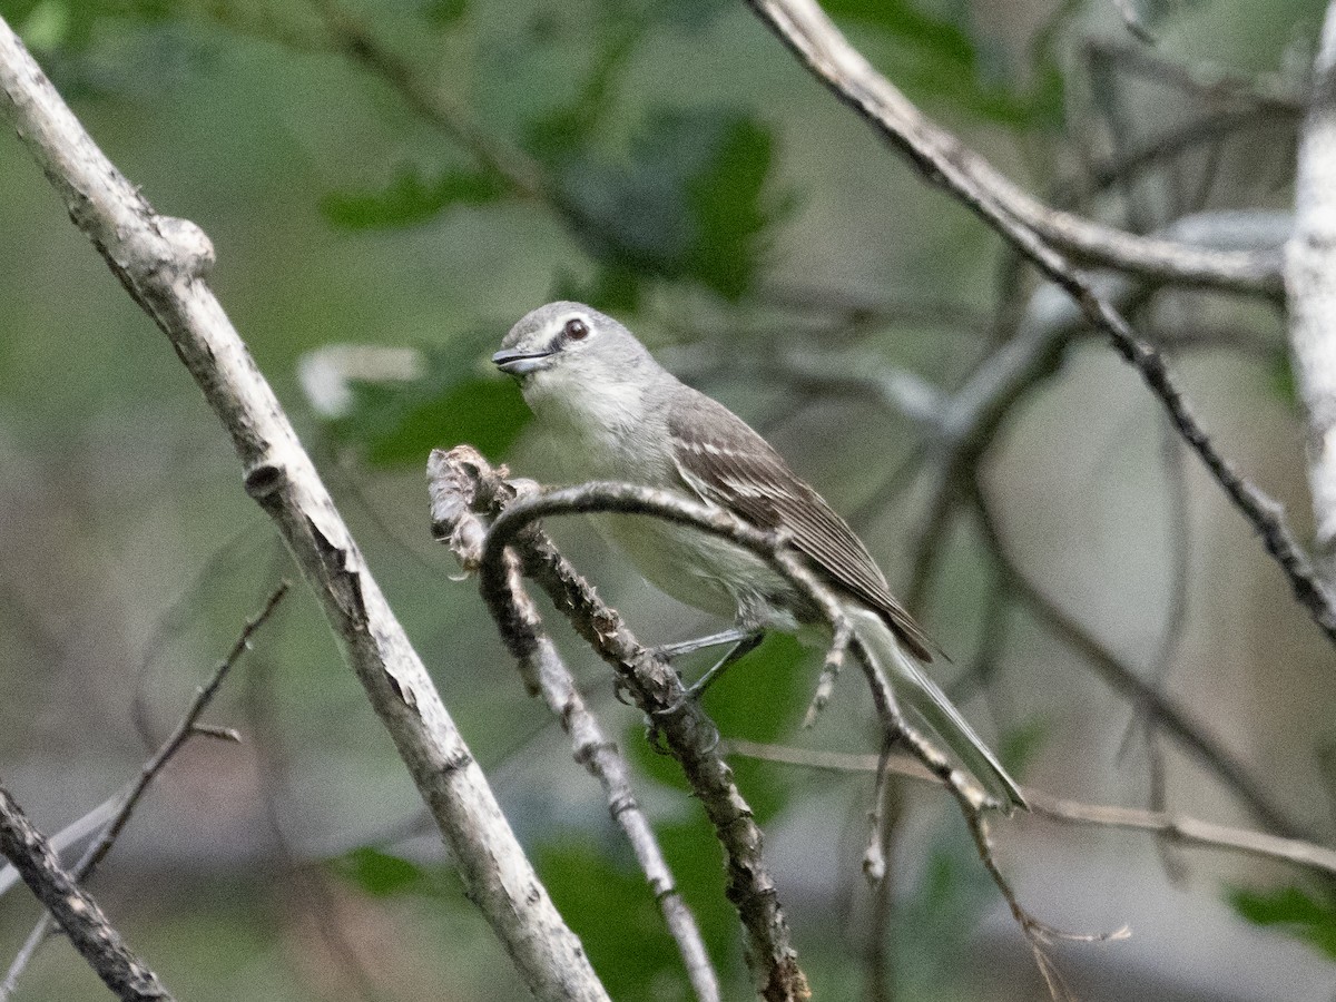
{"type": "Polygon", "coordinates": [[[696,110],[651,118],[627,162],[574,158],[557,170],[576,232],[605,267],[693,279],[737,299],[780,211],[764,198],[772,160],[766,127],[696,110]]]}

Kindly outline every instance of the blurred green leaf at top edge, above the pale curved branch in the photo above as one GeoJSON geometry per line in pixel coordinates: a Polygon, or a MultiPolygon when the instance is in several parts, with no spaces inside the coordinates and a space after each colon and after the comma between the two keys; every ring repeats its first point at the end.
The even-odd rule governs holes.
{"type": "MultiPolygon", "coordinates": [[[[835,19],[874,29],[888,44],[872,53],[888,76],[916,98],[933,98],[977,118],[1015,128],[1061,122],[1062,71],[1045,60],[1034,83],[1021,90],[1001,72],[994,52],[981,48],[971,32],[947,17],[923,11],[916,0],[827,0],[835,19]]],[[[961,7],[962,20],[969,13],[961,7]]]]}

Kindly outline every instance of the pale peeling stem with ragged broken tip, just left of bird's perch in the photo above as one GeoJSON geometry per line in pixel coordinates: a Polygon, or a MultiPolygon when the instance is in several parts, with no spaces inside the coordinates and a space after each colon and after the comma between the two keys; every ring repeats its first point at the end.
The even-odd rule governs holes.
{"type": "MultiPolygon", "coordinates": [[[[477,549],[466,540],[477,540],[486,530],[472,512],[477,484],[470,482],[468,476],[458,476],[462,460],[464,454],[458,449],[452,453],[436,450],[428,464],[428,477],[432,485],[432,524],[437,536],[442,542],[458,546],[456,556],[469,565],[477,560],[477,549]]],[[[631,770],[625,758],[616,743],[607,737],[593,711],[585,704],[570,669],[544,632],[542,619],[524,591],[518,573],[510,574],[508,592],[510,608],[498,621],[514,629],[514,635],[506,637],[506,645],[512,651],[524,652],[518,655],[521,676],[537,687],[548,708],[561,721],[561,728],[570,736],[574,760],[603,786],[608,812],[631,843],[636,862],[663,911],[664,922],[677,941],[696,998],[700,1002],[717,1002],[719,979],[709,963],[700,929],[677,891],[649,819],[631,790],[631,770]]]]}

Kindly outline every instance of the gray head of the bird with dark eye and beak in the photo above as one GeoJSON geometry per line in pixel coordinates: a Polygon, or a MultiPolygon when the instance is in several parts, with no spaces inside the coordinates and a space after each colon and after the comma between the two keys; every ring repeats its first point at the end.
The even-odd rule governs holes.
{"type": "Polygon", "coordinates": [[[659,371],[653,357],[612,317],[584,303],[540,306],[516,323],[492,361],[516,377],[530,406],[589,394],[625,397],[659,371]]]}

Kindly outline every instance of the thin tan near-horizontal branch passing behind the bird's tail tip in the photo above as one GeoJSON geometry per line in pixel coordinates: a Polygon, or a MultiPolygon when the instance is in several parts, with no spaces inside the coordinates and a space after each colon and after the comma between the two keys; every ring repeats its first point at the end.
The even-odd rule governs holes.
{"type": "MultiPolygon", "coordinates": [[[[830,772],[874,772],[880,762],[876,755],[855,755],[834,751],[786,748],[775,744],[756,744],[728,739],[724,754],[748,759],[778,762],[803,768],[830,772]]],[[[906,756],[892,756],[886,767],[896,775],[923,783],[937,783],[923,766],[906,756]]],[[[1063,824],[1088,824],[1101,828],[1145,831],[1169,842],[1228,852],[1242,852],[1261,859],[1275,859],[1336,876],[1336,850],[1301,839],[1285,839],[1246,828],[1202,822],[1181,814],[1140,811],[1132,807],[1112,807],[1067,800],[1034,787],[1025,787],[1030,812],[1063,824]]]]}

